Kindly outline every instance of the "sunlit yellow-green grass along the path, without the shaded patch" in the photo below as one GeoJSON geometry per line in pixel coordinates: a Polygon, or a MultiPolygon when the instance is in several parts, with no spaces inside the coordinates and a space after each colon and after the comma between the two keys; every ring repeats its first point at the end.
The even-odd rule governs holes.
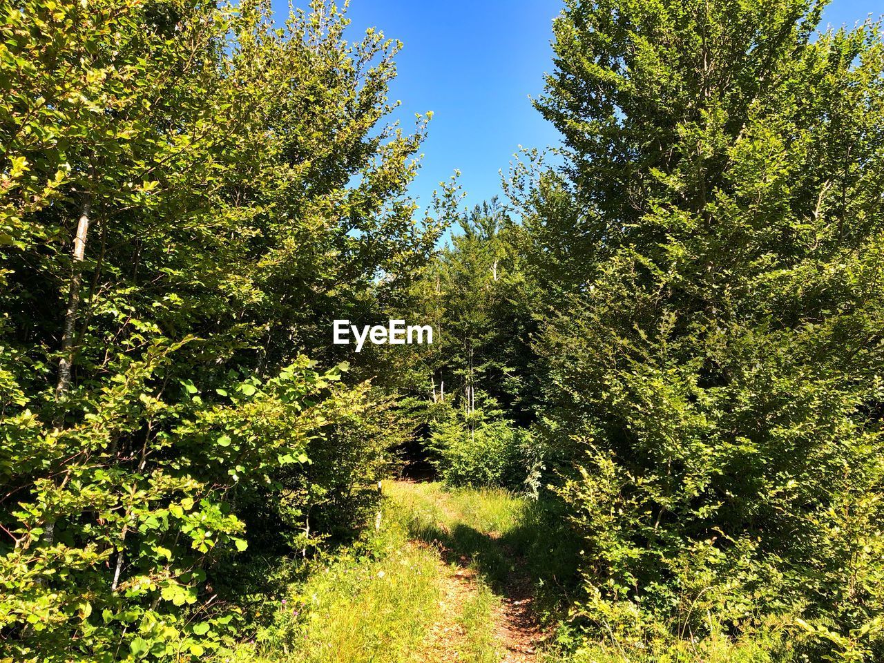
{"type": "Polygon", "coordinates": [[[501,491],[485,508],[484,496],[462,492],[457,512],[448,513],[446,492],[439,486],[415,486],[413,495],[391,484],[385,492],[380,530],[332,560],[314,562],[307,579],[293,583],[274,606],[273,623],[254,642],[241,644],[234,661],[430,663],[439,652],[428,647],[443,645],[464,663],[500,660],[494,617],[499,598],[481,576],[469,584],[456,579],[457,569],[439,559],[438,547],[422,542],[434,531],[434,518],[454,525],[465,517],[470,528],[512,530],[524,505],[501,491]],[[409,526],[416,524],[412,516],[418,502],[427,537],[415,536],[409,526]],[[452,583],[458,605],[446,608],[442,599],[452,583]],[[451,642],[438,642],[443,631],[451,642]]]}

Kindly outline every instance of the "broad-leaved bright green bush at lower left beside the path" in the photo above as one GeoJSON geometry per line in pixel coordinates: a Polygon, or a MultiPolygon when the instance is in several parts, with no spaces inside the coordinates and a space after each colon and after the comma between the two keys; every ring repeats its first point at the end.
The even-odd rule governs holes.
{"type": "MultiPolygon", "coordinates": [[[[336,473],[311,448],[372,409],[364,387],[306,359],[208,406],[189,381],[164,383],[174,350],[156,343],[64,431],[4,403],[0,470],[17,505],[0,511],[13,540],[0,546],[0,629],[13,659],[187,658],[232,644],[240,611],[222,588],[248,547],[254,496],[286,504],[278,527],[302,525],[326,494],[310,472],[336,473]]],[[[373,444],[338,476],[348,492],[372,480],[373,444]]]]}

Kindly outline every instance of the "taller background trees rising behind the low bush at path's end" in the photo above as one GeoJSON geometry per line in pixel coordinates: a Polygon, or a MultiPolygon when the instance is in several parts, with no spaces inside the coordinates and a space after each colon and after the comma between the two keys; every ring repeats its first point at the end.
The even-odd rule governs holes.
{"type": "Polygon", "coordinates": [[[438,414],[435,406],[446,403],[467,419],[479,409],[503,409],[523,425],[533,417],[536,388],[525,363],[534,323],[518,249],[522,231],[497,199],[469,212],[449,205],[446,217],[459,232],[394,309],[432,324],[435,333],[433,345],[419,348],[397,371],[400,385],[417,399],[403,408],[403,418],[421,429],[438,414]],[[432,406],[420,407],[428,400],[432,406]]]}

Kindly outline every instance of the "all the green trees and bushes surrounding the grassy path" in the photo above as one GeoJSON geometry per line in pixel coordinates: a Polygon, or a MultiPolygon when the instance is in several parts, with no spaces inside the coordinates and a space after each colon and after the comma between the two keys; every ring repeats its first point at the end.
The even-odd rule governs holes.
{"type": "Polygon", "coordinates": [[[537,660],[884,658],[884,40],[824,5],[567,0],[554,158],[419,213],[346,7],[0,0],[0,660],[332,660],[266,606],[402,554],[403,472],[556,541],[537,660]]]}

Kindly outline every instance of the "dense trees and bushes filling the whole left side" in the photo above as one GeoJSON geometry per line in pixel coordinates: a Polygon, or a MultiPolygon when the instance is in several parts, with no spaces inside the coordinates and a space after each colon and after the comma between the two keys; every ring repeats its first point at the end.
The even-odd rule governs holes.
{"type": "Polygon", "coordinates": [[[0,4],[0,659],[202,657],[249,542],[368,515],[385,408],[301,354],[432,249],[423,120],[398,44],[268,12],[0,4]]]}

